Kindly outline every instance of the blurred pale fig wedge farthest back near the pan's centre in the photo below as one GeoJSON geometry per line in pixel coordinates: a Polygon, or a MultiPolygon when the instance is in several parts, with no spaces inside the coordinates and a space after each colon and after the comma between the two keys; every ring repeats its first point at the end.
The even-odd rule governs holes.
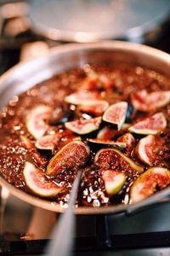
{"type": "Polygon", "coordinates": [[[88,91],[88,90],[78,90],[69,96],[65,96],[65,102],[73,105],[86,104],[87,101],[95,101],[99,99],[99,92],[88,91]]]}

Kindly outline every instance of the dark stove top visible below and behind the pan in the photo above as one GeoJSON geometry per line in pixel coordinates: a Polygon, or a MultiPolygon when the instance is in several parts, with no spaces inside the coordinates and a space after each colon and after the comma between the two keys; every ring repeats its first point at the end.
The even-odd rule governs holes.
{"type": "MultiPolygon", "coordinates": [[[[0,74],[19,61],[35,58],[59,44],[69,44],[32,32],[26,3],[14,1],[10,14],[8,4],[0,3],[3,17],[0,20],[0,74]]],[[[166,19],[160,27],[144,35],[144,44],[170,53],[169,29],[170,20],[166,19]]],[[[80,256],[170,255],[169,212],[167,198],[140,212],[77,216],[71,253],[80,256]]],[[[59,214],[32,207],[2,188],[0,255],[45,255],[50,232],[58,221],[59,214]]]]}

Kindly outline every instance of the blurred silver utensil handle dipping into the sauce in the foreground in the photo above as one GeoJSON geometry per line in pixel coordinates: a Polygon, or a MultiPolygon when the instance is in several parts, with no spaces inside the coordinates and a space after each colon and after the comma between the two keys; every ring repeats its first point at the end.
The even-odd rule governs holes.
{"type": "Polygon", "coordinates": [[[77,177],[72,185],[71,197],[68,207],[63,215],[59,218],[59,223],[55,224],[52,232],[52,240],[48,243],[46,253],[50,256],[55,256],[56,252],[59,256],[68,255],[71,251],[74,227],[75,227],[75,214],[74,206],[77,200],[77,191],[82,177],[82,172],[77,173],[77,177]],[[62,235],[62,236],[61,236],[62,235]]]}

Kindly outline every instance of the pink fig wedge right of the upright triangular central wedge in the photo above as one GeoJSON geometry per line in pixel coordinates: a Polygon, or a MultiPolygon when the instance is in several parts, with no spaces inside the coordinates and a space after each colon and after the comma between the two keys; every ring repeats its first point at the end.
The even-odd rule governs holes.
{"type": "Polygon", "coordinates": [[[167,120],[163,113],[156,113],[138,123],[130,126],[128,131],[137,134],[157,134],[163,131],[167,126],[167,120]]]}

